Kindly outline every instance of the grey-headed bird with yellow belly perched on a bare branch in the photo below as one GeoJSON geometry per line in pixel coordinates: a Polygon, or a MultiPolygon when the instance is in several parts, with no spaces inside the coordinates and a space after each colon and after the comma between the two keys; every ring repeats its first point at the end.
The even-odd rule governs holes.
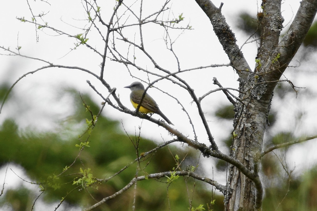
{"type": "MultiPolygon", "coordinates": [[[[130,86],[125,86],[124,88],[129,88],[131,90],[130,101],[133,107],[136,109],[141,101],[143,93],[145,91],[142,83],[136,81],[131,83],[130,86]]],[[[139,112],[143,114],[154,113],[160,115],[167,123],[174,125],[171,121],[161,112],[158,104],[153,100],[151,96],[145,93],[145,96],[142,100],[139,112]]]]}

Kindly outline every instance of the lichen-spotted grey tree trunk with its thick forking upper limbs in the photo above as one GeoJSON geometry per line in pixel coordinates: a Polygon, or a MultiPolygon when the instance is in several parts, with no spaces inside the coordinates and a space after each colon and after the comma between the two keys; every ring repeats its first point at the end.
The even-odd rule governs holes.
{"type": "Polygon", "coordinates": [[[243,174],[235,165],[230,164],[227,181],[230,191],[225,194],[225,210],[262,210],[263,189],[258,176],[258,164],[273,90],[314,20],[317,0],[301,1],[293,23],[280,42],[284,21],[281,16],[281,0],[263,0],[263,10],[258,14],[261,41],[257,53],[258,62],[253,71],[237,46],[235,34],[230,30],[221,10],[210,0],[196,2],[209,17],[219,42],[239,76],[239,89],[246,93],[240,93],[241,102],[235,104],[230,157],[242,163],[249,174],[243,174]]]}

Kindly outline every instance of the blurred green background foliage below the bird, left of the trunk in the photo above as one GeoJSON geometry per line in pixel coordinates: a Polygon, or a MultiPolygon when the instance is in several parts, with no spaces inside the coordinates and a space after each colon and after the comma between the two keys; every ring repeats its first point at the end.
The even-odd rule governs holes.
{"type": "MultiPolygon", "coordinates": [[[[3,90],[6,89],[3,88],[3,90]]],[[[54,133],[20,131],[13,120],[6,120],[0,126],[1,165],[6,165],[8,162],[17,163],[25,170],[31,181],[41,183],[40,185],[34,184],[34,186],[39,188],[40,192],[36,191],[33,193],[28,190],[28,197],[18,197],[16,199],[19,203],[27,203],[24,204],[26,209],[23,210],[30,210],[30,206],[42,192],[40,199],[47,203],[53,203],[54,207],[59,202],[63,202],[69,204],[70,207],[83,206],[86,208],[88,205],[94,204],[95,200],[100,201],[102,198],[120,190],[135,177],[137,165],[133,163],[107,182],[96,181],[97,178],[109,178],[134,161],[136,158],[135,148],[126,134],[121,132],[118,127],[120,125],[119,122],[111,121],[103,116],[98,117],[98,122],[94,125],[93,131],[88,134],[87,129],[93,126],[93,122],[96,119],[94,115],[99,112],[100,105],[84,95],[82,98],[87,106],[82,106],[82,100],[78,96],[78,92],[74,90],[67,90],[67,92],[72,93],[75,98],[75,107],[73,109],[75,115],[67,118],[70,122],[63,122],[62,132],[63,134],[74,134],[73,128],[78,128],[78,126],[73,127],[74,124],[83,126],[81,127],[83,130],[86,127],[86,133],[80,135],[80,140],[76,135],[74,137],[67,136],[67,139],[65,137],[61,138],[60,131],[55,131],[54,133]],[[77,147],[81,148],[88,144],[86,142],[88,137],[90,147],[78,151],[77,147]],[[75,147],[76,144],[78,144],[77,147],[75,147]],[[74,162],[79,153],[81,153],[79,158],[74,162]],[[73,162],[74,164],[72,164],[73,162]],[[63,171],[64,173],[59,175],[63,171]],[[83,189],[85,191],[81,191],[83,189]]],[[[77,134],[81,133],[82,131],[77,131],[77,134]]],[[[157,143],[141,138],[138,150],[141,154],[156,146],[157,143]]],[[[181,158],[184,157],[186,157],[186,163],[191,166],[192,160],[197,158],[196,152],[187,148],[186,151],[173,146],[170,146],[169,149],[173,155],[167,148],[161,148],[154,156],[141,160],[140,165],[143,171],[140,171],[140,174],[148,175],[175,169],[175,160],[179,164],[183,161],[181,158]]],[[[195,166],[196,162],[194,160],[195,164],[192,166],[195,166]]],[[[188,195],[183,194],[187,193],[186,183],[189,190],[191,190],[193,188],[193,180],[187,178],[185,183],[183,177],[176,175],[175,170],[172,170],[171,176],[166,179],[169,182],[177,183],[177,185],[172,185],[168,189],[171,210],[183,211],[189,206],[188,195]]],[[[0,198],[0,206],[8,203],[9,192],[18,194],[19,191],[19,189],[9,190],[5,187],[3,199],[0,198]]],[[[138,210],[169,209],[166,201],[165,182],[159,182],[154,179],[138,181],[137,191],[138,210]]],[[[206,191],[201,186],[201,183],[196,182],[193,192],[193,201],[195,203],[204,204],[209,201],[210,195],[210,192],[206,191]]],[[[220,202],[216,206],[217,210],[223,210],[223,203],[221,203],[223,197],[217,197],[219,197],[220,202]]],[[[131,190],[128,190],[110,203],[102,205],[99,210],[128,210],[132,206],[132,199],[133,194],[131,194],[131,190]]],[[[35,203],[36,206],[37,202],[35,203]]]]}

